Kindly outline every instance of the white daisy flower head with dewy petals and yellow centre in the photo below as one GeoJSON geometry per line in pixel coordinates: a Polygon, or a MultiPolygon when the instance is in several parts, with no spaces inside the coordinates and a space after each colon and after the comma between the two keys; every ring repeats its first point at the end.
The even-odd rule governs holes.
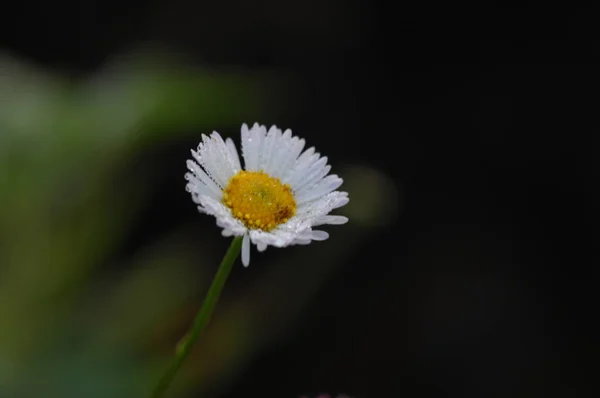
{"type": "Polygon", "coordinates": [[[242,263],[250,263],[250,242],[258,251],[325,240],[313,227],[345,224],[348,218],[329,212],[348,203],[337,175],[327,175],[327,157],[305,151],[304,140],[291,130],[269,131],[255,123],[242,125],[244,168],[231,139],[202,135],[195,159],[187,161],[186,189],[200,212],[215,216],[223,236],[243,236],[242,263]]]}

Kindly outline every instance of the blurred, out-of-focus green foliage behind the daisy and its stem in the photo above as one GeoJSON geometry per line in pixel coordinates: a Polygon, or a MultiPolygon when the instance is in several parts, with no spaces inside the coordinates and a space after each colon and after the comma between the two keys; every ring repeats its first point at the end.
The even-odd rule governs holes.
{"type": "MultiPolygon", "coordinates": [[[[178,132],[261,120],[266,103],[260,79],[153,52],[76,82],[0,56],[0,398],[149,392],[220,258],[178,227],[120,272],[97,272],[131,233],[152,187],[151,169],[118,176],[132,156],[178,132]]],[[[290,249],[298,251],[282,260],[289,266],[267,267],[236,295],[226,287],[172,396],[208,394],[231,380],[293,328],[348,248],[389,222],[395,191],[385,176],[364,166],[338,173],[351,198],[353,190],[372,195],[350,202],[342,213],[351,223],[326,245],[290,249]]],[[[222,239],[216,229],[213,239],[222,239]]]]}

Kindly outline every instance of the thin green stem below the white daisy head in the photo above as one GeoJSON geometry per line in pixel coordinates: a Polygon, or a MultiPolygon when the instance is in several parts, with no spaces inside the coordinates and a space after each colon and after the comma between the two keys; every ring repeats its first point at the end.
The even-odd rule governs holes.
{"type": "Polygon", "coordinates": [[[210,288],[208,289],[208,293],[206,294],[206,298],[202,303],[202,307],[200,307],[200,311],[196,315],[196,319],[194,319],[194,324],[190,331],[184,336],[184,338],[177,345],[177,349],[175,350],[175,357],[171,362],[171,365],[163,375],[163,377],[159,380],[158,385],[154,389],[152,393],[152,398],[160,398],[164,395],[164,393],[171,385],[173,378],[177,374],[177,371],[181,367],[181,364],[187,358],[187,356],[192,351],[192,347],[194,343],[200,336],[200,333],[204,330],[206,325],[210,320],[210,316],[212,315],[215,306],[217,305],[217,301],[219,300],[219,296],[221,295],[221,291],[223,290],[223,286],[225,285],[225,281],[227,281],[227,277],[231,273],[231,268],[233,267],[233,263],[235,262],[237,256],[240,254],[240,250],[242,249],[242,237],[238,236],[233,239],[231,242],[231,246],[225,253],[225,257],[223,257],[223,261],[221,261],[221,265],[219,266],[219,270],[213,279],[210,288]]]}

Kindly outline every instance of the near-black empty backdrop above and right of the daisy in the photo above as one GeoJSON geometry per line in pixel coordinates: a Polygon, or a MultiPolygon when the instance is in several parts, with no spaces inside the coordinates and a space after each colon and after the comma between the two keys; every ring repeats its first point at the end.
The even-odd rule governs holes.
{"type": "MultiPolygon", "coordinates": [[[[261,76],[272,107],[259,122],[396,187],[395,216],[347,248],[297,327],[211,393],[594,396],[598,9],[513,4],[24,2],[2,12],[0,41],[74,84],[144,43],[261,76]]],[[[146,162],[160,178],[94,278],[110,281],[118,260],[178,224],[225,250],[190,205],[182,165],[201,132],[237,141],[242,121],[254,122],[161,128],[179,138],[126,160],[122,178],[146,162]]],[[[237,271],[233,291],[253,278],[237,271]]],[[[168,351],[193,307],[148,350],[168,351]]]]}

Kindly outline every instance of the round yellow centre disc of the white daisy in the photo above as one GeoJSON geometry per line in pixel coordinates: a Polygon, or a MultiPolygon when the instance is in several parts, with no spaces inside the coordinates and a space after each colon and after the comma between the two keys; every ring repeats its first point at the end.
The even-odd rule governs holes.
{"type": "Polygon", "coordinates": [[[270,231],[296,212],[292,188],[263,171],[240,171],[223,190],[223,204],[248,228],[270,231]]]}

